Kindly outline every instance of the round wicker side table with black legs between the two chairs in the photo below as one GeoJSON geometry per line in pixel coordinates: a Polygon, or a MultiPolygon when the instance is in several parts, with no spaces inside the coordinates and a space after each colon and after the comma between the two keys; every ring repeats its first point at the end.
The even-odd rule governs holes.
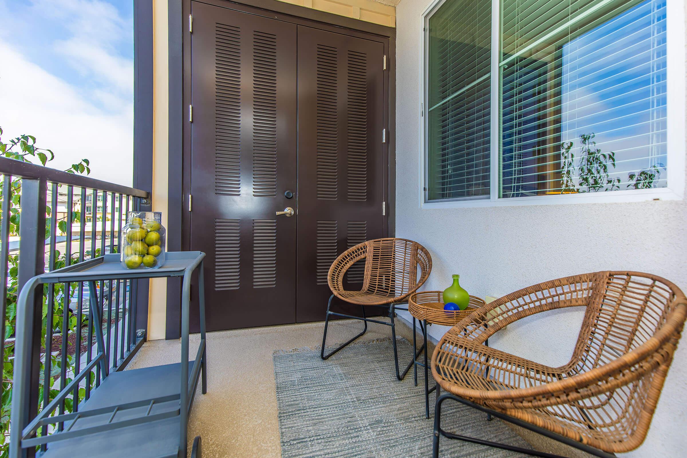
{"type": "MultiPolygon", "coordinates": [[[[484,300],[476,296],[470,296],[470,301],[465,310],[444,310],[442,301],[443,291],[419,291],[408,297],[408,311],[413,317],[413,354],[417,355],[415,322],[420,321],[420,330],[423,332],[423,346],[420,352],[425,351],[425,362],[415,360],[415,386],[418,386],[418,366],[425,368],[425,417],[429,418],[429,393],[436,390],[436,384],[429,388],[429,365],[427,363],[427,325],[439,324],[453,326],[467,317],[469,314],[485,305],[484,300]]],[[[488,345],[488,342],[486,343],[488,345]]],[[[418,355],[419,356],[419,355],[418,355]]]]}

